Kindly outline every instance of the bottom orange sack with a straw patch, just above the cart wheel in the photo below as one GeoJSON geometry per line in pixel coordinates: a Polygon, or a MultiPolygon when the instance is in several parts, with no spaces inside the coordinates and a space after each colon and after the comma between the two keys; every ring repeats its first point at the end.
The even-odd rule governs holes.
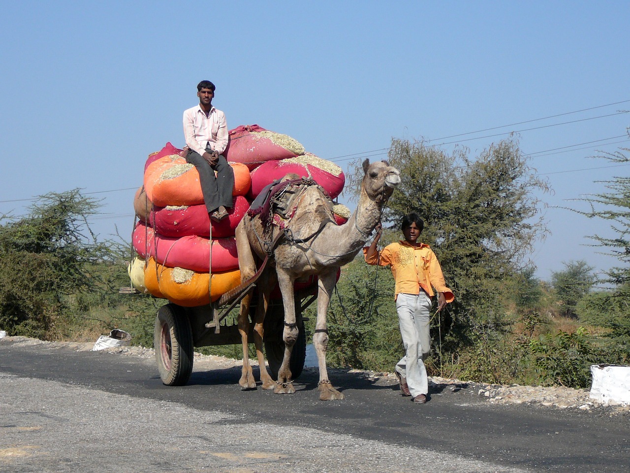
{"type": "Polygon", "coordinates": [[[197,307],[219,299],[241,284],[241,271],[215,272],[212,274],[212,286],[209,278],[207,272],[162,266],[152,258],[149,258],[144,270],[144,285],[152,295],[183,307],[197,307]]]}

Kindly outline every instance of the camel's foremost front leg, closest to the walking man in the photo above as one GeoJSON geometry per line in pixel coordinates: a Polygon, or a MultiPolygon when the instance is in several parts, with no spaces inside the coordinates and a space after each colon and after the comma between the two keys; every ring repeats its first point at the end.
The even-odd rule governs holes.
{"type": "Polygon", "coordinates": [[[335,271],[328,271],[326,274],[319,274],[319,291],[317,298],[317,324],[313,335],[313,344],[317,353],[319,364],[319,399],[338,400],[343,399],[343,394],[333,388],[328,380],[328,370],[326,369],[326,348],[328,347],[328,329],[326,328],[326,313],[330,296],[335,289],[337,279],[335,271]]]}

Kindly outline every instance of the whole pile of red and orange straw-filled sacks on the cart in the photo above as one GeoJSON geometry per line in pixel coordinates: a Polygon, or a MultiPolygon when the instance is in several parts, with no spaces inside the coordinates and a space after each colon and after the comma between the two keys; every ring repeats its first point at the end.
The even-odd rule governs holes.
{"type": "MultiPolygon", "coordinates": [[[[334,199],[345,184],[339,166],[306,153],[295,139],[258,125],[239,126],[229,131],[224,152],[234,171],[233,206],[227,218],[214,221],[203,204],[197,169],[181,151],[167,143],[147,158],[144,185],[134,198],[137,256],[129,274],[139,291],[184,307],[215,301],[241,282],[234,232],[266,185],[295,173],[334,199]]],[[[333,210],[338,225],[350,215],[341,204],[333,210]]]]}

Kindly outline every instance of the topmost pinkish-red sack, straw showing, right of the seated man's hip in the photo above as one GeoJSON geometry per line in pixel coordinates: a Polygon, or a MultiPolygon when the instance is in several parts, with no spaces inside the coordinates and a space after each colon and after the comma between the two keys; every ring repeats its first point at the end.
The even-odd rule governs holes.
{"type": "Polygon", "coordinates": [[[290,136],[269,131],[258,125],[241,125],[229,131],[228,161],[255,169],[265,161],[295,158],[304,154],[304,146],[290,136]]]}

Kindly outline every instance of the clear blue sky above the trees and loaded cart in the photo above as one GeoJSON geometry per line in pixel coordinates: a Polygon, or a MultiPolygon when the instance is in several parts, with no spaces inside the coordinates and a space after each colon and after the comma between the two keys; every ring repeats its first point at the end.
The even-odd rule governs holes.
{"type": "Polygon", "coordinates": [[[626,101],[442,140],[467,139],[474,156],[507,135],[480,137],[543,127],[520,132],[554,189],[541,196],[552,235],[532,255],[538,276],[563,261],[615,262],[585,246],[605,223],[553,206],[629,175],[590,156],[630,143],[630,114],[604,117],[630,110],[630,2],[25,1],[2,10],[0,214],[80,187],[104,199],[93,220],[101,238],[115,226],[130,233],[144,161],[167,141],[183,145],[181,114],[198,103],[201,79],[217,85],[213,103],[229,128],[288,134],[343,168],[340,156],[385,158],[370,151],[392,137],[440,143],[626,101]],[[560,125],[574,120],[583,121],[560,125]]]}

